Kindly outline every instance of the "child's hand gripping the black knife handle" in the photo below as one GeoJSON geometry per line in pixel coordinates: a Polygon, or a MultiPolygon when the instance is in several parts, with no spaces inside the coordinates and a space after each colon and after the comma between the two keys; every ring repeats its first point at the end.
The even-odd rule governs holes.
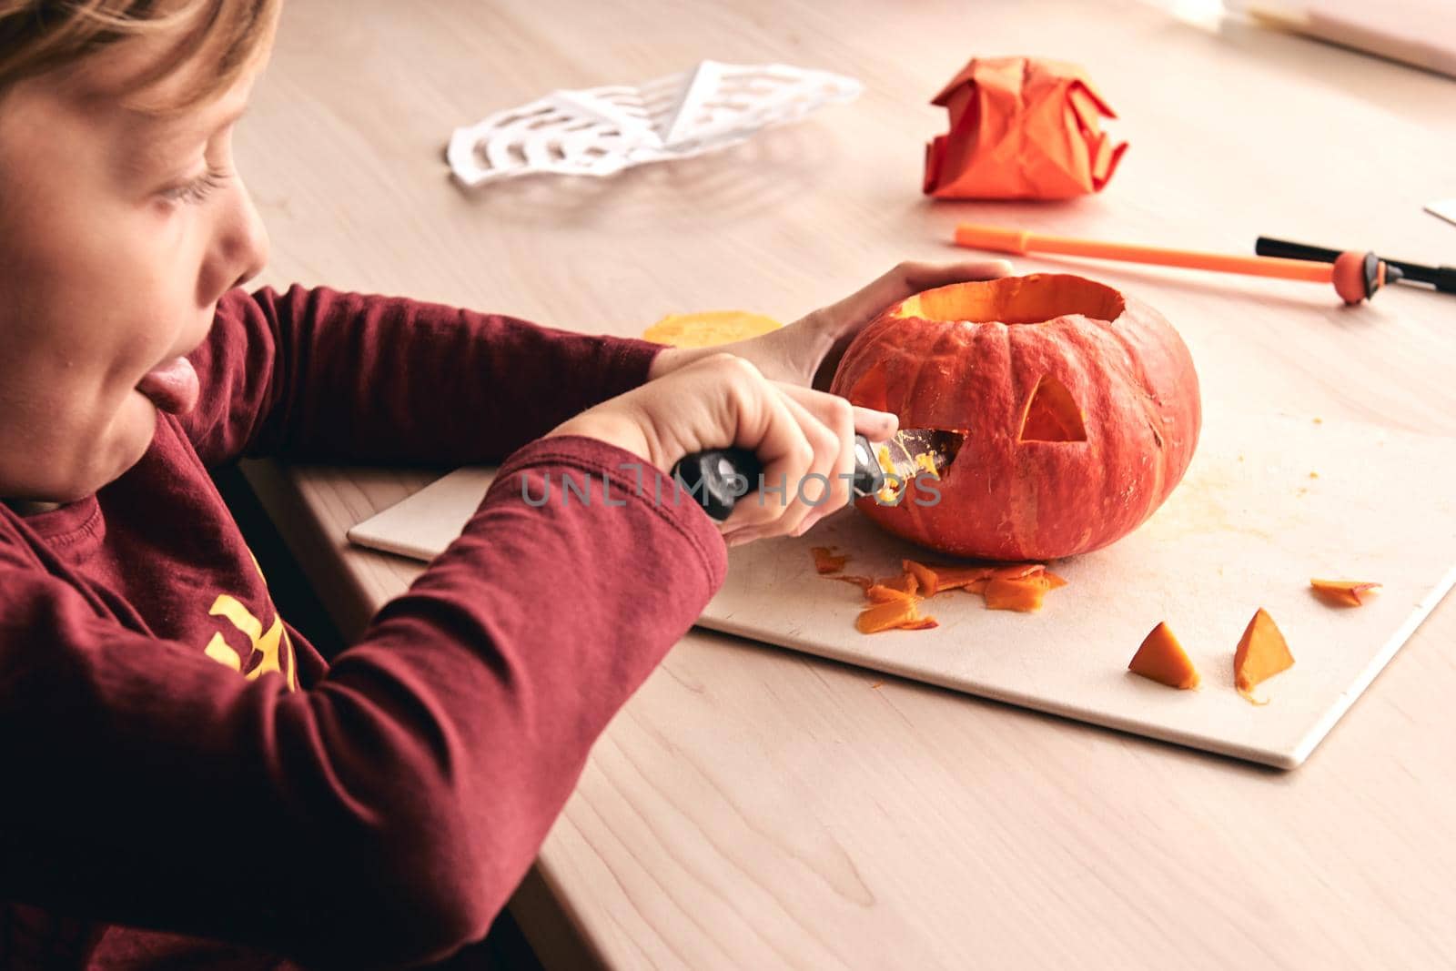
{"type": "Polygon", "coordinates": [[[661,380],[590,408],[549,435],[585,435],[641,456],[662,472],[706,448],[740,445],[763,463],[782,494],[740,499],[721,528],[729,543],[798,536],[850,498],[855,432],[884,440],[894,415],[853,408],[843,397],[770,381],[743,357],[712,354],[661,380]],[[821,477],[823,476],[823,477],[821,477]],[[828,482],[827,496],[824,495],[828,482]],[[799,488],[802,483],[802,489],[799,488]]]}

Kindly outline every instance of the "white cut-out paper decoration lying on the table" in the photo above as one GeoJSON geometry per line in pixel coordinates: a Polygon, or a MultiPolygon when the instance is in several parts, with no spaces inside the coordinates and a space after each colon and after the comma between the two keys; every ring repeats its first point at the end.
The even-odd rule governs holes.
{"type": "Polygon", "coordinates": [[[559,90],[496,112],[457,128],[447,157],[466,186],[531,172],[603,176],[725,148],[860,90],[828,71],[703,61],[636,87],[559,90]]]}

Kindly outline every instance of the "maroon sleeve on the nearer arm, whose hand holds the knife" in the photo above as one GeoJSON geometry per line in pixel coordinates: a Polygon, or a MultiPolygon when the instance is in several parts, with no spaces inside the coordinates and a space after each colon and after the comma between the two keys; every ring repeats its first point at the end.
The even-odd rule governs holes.
{"type": "Polygon", "coordinates": [[[300,690],[102,616],[0,521],[0,898],[351,968],[483,936],[593,741],[722,581],[712,523],[665,476],[639,491],[633,461],[577,437],[517,451],[300,690]]]}

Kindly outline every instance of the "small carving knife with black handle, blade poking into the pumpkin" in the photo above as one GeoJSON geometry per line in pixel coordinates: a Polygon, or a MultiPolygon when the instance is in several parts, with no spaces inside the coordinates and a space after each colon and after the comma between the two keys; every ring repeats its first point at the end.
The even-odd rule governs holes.
{"type": "MultiPolygon", "coordinates": [[[[909,482],[926,472],[925,463],[939,473],[955,460],[962,441],[965,435],[960,432],[933,428],[909,428],[878,445],[855,435],[855,496],[875,495],[891,475],[909,482]]],[[[757,491],[761,475],[763,463],[747,448],[695,451],[673,466],[673,477],[719,523],[740,498],[757,491]]]]}

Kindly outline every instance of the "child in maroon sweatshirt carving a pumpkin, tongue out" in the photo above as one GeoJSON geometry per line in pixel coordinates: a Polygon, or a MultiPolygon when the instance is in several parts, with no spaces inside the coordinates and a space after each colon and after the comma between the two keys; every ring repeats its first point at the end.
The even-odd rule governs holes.
{"type": "Polygon", "coordinates": [[[882,306],[1005,272],[901,268],[732,354],[246,296],[266,242],[230,137],[275,19],[277,0],[0,0],[6,967],[396,967],[479,940],[716,590],[724,537],[810,528],[847,501],[852,432],[894,431],[815,373],[882,306]],[[836,488],[743,502],[719,531],[662,470],[728,444],[836,488]],[[207,476],[242,454],[504,464],[328,664],[207,476]],[[523,499],[584,473],[625,504],[523,499]],[[539,609],[562,575],[569,603],[539,609]]]}

